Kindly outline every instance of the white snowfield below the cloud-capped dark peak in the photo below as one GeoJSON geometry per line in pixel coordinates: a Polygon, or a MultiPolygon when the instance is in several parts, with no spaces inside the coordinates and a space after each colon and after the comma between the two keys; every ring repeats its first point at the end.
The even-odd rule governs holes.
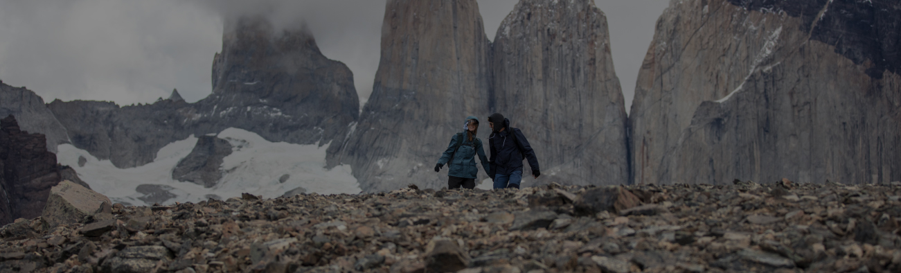
{"type": "Polygon", "coordinates": [[[171,187],[168,192],[174,197],[161,205],[197,203],[206,200],[208,195],[228,198],[250,193],[274,198],[297,187],[321,195],[361,191],[357,179],[351,175],[350,166],[324,168],[325,150],[329,145],[270,142],[256,133],[235,128],[226,129],[217,137],[229,141],[233,152],[223,159],[223,178],[211,188],[172,179],[172,169],[196,145],[197,138],[193,135],[169,143],[159,150],[153,162],[137,168],[116,168],[110,160],[98,160],[71,144],[59,145],[57,158],[61,164],[75,168],[78,176],[91,188],[125,205],[152,205],[140,199],[145,196],[136,190],[141,185],[171,187]],[[79,157],[87,159],[83,167],[77,164],[79,157]],[[282,183],[279,178],[285,174],[289,178],[282,183]]]}

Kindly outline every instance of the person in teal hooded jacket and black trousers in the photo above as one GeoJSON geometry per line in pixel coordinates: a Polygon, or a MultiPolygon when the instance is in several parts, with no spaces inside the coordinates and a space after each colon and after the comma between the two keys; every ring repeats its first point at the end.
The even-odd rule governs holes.
{"type": "Polygon", "coordinates": [[[458,132],[451,137],[451,144],[441,154],[435,171],[440,171],[444,164],[450,166],[448,170],[448,188],[475,188],[476,187],[476,154],[482,162],[482,169],[488,172],[488,159],[485,158],[485,150],[482,149],[482,141],[476,137],[478,133],[478,118],[466,117],[463,125],[464,132],[458,132]]]}

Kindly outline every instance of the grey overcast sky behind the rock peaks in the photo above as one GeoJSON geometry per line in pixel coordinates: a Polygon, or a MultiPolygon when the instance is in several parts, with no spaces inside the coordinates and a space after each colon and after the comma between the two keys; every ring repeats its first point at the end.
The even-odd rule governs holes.
{"type": "MultiPolygon", "coordinates": [[[[478,2],[487,37],[518,0],[478,2]]],[[[596,0],[607,15],[626,109],[669,0],[596,0]]],[[[376,75],[381,0],[0,0],[0,80],[46,102],[152,103],[173,88],[188,102],[209,95],[222,49],[223,15],[269,14],[278,24],[309,24],[320,50],[353,71],[361,103],[376,75]]]]}

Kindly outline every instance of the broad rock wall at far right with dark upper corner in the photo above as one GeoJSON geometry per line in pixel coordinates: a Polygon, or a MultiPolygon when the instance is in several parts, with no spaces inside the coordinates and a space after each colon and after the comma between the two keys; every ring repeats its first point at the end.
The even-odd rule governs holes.
{"type": "Polygon", "coordinates": [[[901,179],[896,1],[672,1],[630,116],[634,183],[901,179]]]}

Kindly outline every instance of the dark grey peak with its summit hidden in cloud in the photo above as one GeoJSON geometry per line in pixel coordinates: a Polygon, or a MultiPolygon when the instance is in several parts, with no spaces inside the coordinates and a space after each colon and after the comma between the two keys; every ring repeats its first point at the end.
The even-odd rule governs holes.
{"type": "Polygon", "coordinates": [[[350,68],[325,58],[308,29],[241,18],[226,22],[213,94],[196,109],[205,133],[234,127],[269,141],[325,145],[343,141],[359,117],[359,97],[350,68]]]}

